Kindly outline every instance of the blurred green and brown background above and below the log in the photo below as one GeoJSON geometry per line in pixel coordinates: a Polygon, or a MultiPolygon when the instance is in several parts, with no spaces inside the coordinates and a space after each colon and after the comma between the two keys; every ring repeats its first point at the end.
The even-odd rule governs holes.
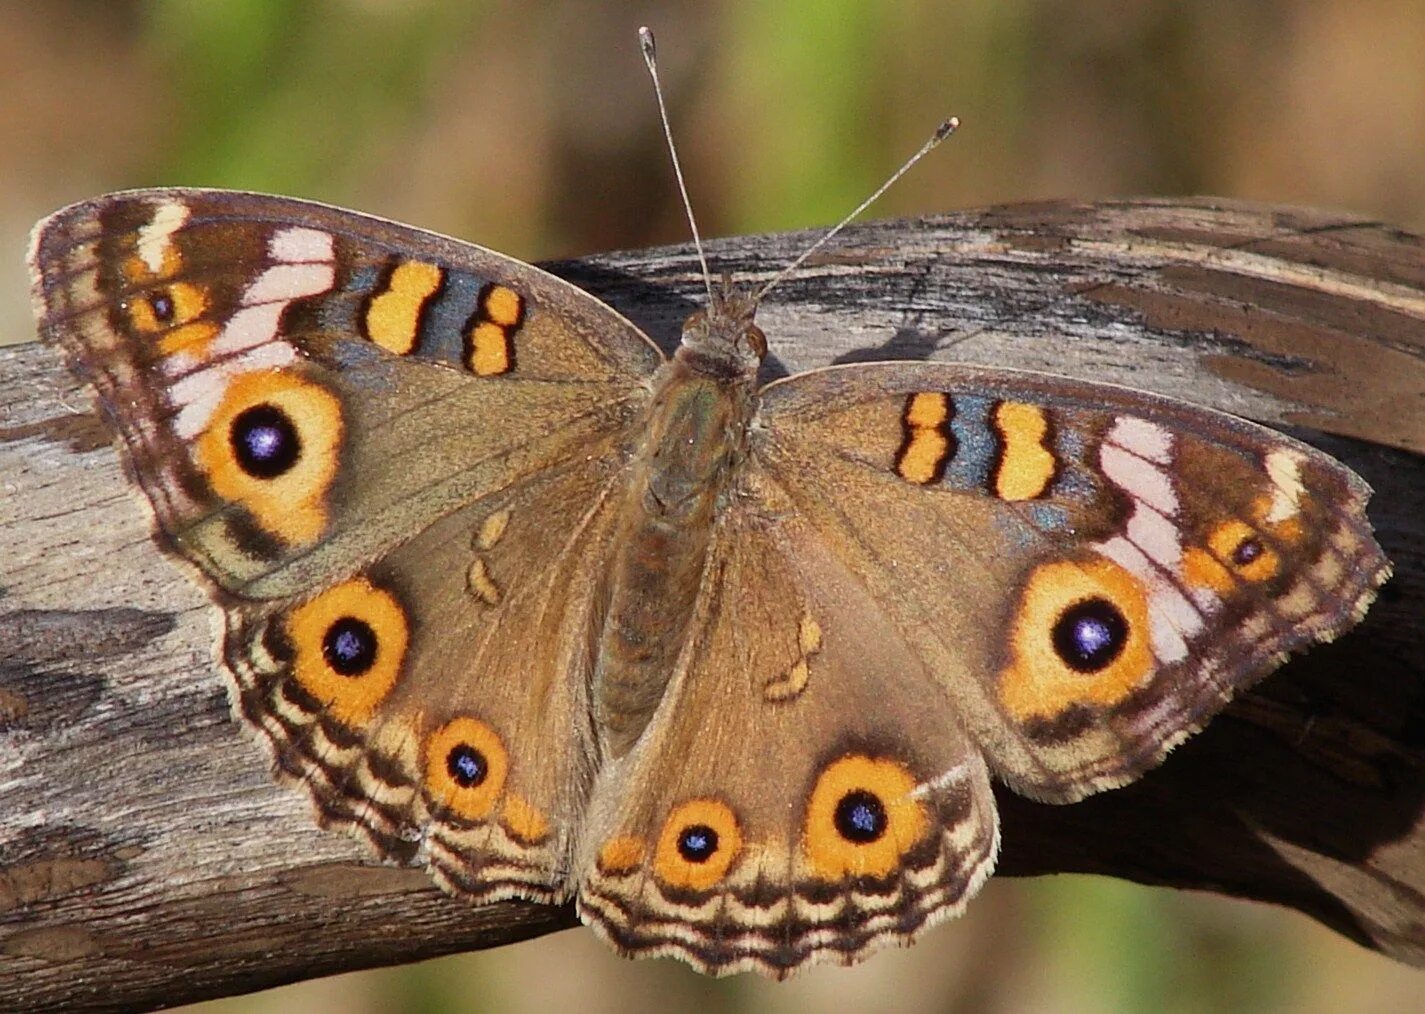
{"type": "MultiPolygon", "coordinates": [[[[681,242],[643,23],[707,235],[829,224],[952,113],[878,216],[1217,194],[1425,229],[1418,0],[10,3],[0,342],[33,336],[30,225],[124,187],[311,197],[529,259],[681,242]]],[[[1060,877],[787,984],[574,930],[209,1010],[1418,1010],[1422,986],[1292,913],[1060,877]]]]}

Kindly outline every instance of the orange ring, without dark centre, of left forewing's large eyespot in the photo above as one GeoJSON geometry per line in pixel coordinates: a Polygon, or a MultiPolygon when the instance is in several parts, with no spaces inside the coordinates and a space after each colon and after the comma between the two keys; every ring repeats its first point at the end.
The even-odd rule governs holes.
{"type": "Polygon", "coordinates": [[[336,394],[289,370],[239,373],[197,441],[197,463],[214,496],[244,507],[288,545],[315,541],[326,527],[326,493],[336,476],[345,424],[336,394]],[[256,406],[271,406],[296,432],[298,459],[281,476],[261,479],[238,464],[232,424],[256,406]]]}

